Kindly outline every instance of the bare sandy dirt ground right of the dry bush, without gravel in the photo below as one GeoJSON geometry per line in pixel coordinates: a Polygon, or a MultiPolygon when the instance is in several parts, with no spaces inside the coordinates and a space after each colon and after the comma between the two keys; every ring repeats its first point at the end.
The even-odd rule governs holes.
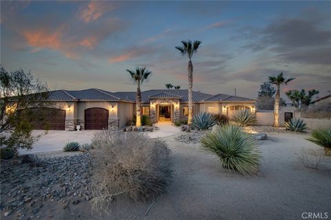
{"type": "MultiPolygon", "coordinates": [[[[91,211],[88,201],[66,209],[45,204],[41,219],[302,219],[302,212],[331,216],[331,157],[322,157],[319,170],[303,166],[299,156],[323,148],[302,134],[274,133],[259,142],[261,172],[245,177],[223,170],[219,159],[201,151],[199,144],[164,140],[172,149],[174,177],[169,192],[151,203],[120,199],[109,214],[91,211]]],[[[12,219],[11,215],[3,219],[12,219]]]]}

